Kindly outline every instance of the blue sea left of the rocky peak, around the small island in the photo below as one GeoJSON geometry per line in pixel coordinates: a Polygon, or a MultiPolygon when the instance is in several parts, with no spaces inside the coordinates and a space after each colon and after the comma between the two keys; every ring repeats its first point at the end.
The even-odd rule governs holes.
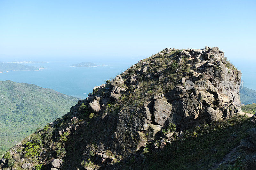
{"type": "Polygon", "coordinates": [[[10,71],[0,73],[0,81],[12,80],[14,82],[35,84],[41,87],[51,88],[70,96],[85,99],[88,93],[92,92],[93,87],[104,84],[107,79],[115,78],[116,75],[143,58],[144,57],[127,58],[125,60],[105,58],[91,61],[95,64],[104,65],[98,67],[69,66],[75,63],[87,62],[88,60],[86,59],[48,59],[47,62],[49,63],[25,64],[44,67],[45,69],[41,69],[40,71],[10,71]]]}

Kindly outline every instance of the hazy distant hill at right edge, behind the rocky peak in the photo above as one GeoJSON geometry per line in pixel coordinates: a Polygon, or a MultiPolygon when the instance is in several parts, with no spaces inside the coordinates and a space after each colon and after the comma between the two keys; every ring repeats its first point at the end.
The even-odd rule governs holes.
{"type": "Polygon", "coordinates": [[[244,105],[256,103],[256,91],[243,87],[240,89],[240,99],[244,105]]]}

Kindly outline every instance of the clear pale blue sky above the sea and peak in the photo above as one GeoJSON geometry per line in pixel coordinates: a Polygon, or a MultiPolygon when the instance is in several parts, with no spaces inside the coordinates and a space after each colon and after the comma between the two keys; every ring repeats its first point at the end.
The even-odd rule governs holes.
{"type": "Polygon", "coordinates": [[[0,0],[0,54],[128,57],[208,45],[255,61],[255,9],[255,0],[0,0]]]}

